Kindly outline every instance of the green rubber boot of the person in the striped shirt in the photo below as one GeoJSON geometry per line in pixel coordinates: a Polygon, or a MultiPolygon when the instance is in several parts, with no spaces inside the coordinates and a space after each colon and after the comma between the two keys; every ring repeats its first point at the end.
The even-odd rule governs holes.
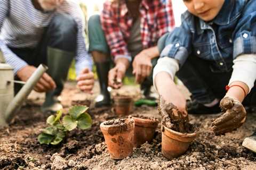
{"type": "Polygon", "coordinates": [[[69,66],[75,54],[57,48],[47,47],[47,73],[54,80],[56,88],[46,92],[45,102],[41,107],[43,112],[57,112],[62,109],[60,94],[67,79],[69,66]]]}

